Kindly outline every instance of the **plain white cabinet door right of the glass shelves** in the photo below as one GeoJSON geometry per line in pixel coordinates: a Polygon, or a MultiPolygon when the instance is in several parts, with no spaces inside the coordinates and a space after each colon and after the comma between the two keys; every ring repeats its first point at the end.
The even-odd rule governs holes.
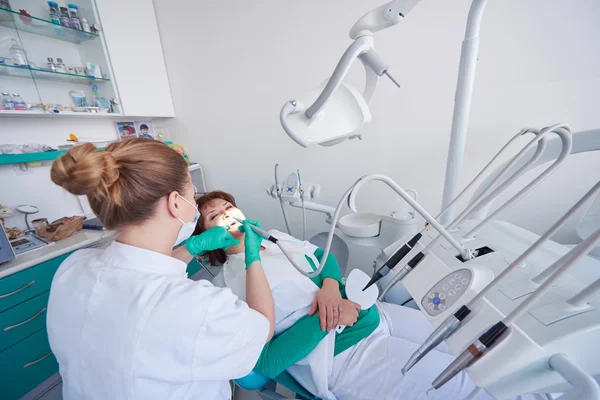
{"type": "Polygon", "coordinates": [[[96,0],[125,115],[174,117],[152,0],[96,0]]]}

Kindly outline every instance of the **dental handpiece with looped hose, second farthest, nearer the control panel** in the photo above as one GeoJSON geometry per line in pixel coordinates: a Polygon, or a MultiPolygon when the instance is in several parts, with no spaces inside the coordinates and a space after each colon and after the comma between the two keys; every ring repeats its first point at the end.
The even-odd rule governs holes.
{"type": "MultiPolygon", "coordinates": [[[[506,173],[510,168],[513,167],[513,165],[515,165],[520,158],[522,158],[524,156],[524,154],[527,152],[527,150],[529,150],[530,147],[532,147],[536,142],[540,142],[541,141],[541,146],[542,148],[545,147],[545,144],[543,144],[543,140],[545,138],[545,135],[548,134],[549,132],[553,132],[556,133],[561,141],[562,141],[562,150],[560,155],[558,156],[558,158],[556,159],[556,161],[554,163],[552,163],[552,165],[550,165],[546,170],[544,170],[543,173],[541,173],[538,177],[536,177],[534,180],[532,180],[531,182],[529,182],[529,184],[527,186],[525,186],[523,189],[521,189],[519,192],[517,192],[517,194],[515,194],[513,197],[511,197],[509,200],[507,200],[498,210],[497,212],[494,212],[492,215],[490,215],[489,217],[487,217],[486,219],[484,219],[478,226],[477,228],[481,228],[482,226],[484,226],[485,224],[489,223],[493,218],[495,218],[499,212],[501,211],[505,211],[508,207],[514,205],[518,200],[520,200],[521,198],[523,198],[527,193],[529,193],[531,190],[533,190],[537,185],[539,185],[542,181],[544,181],[546,178],[548,178],[548,176],[550,176],[551,173],[553,173],[569,156],[569,154],[571,153],[571,149],[573,147],[573,138],[571,136],[571,131],[570,128],[568,127],[568,125],[565,124],[555,124],[549,127],[546,127],[544,129],[542,129],[540,131],[540,133],[531,141],[529,142],[520,152],[519,154],[511,160],[511,162],[509,162],[503,169],[503,171],[501,172],[500,175],[503,175],[503,173],[506,173]]],[[[450,223],[450,225],[448,226],[448,229],[454,229],[456,228],[456,226],[462,222],[464,219],[466,219],[469,214],[473,211],[475,211],[477,208],[482,207],[483,205],[491,202],[492,200],[494,200],[502,191],[504,191],[508,186],[510,186],[522,173],[524,173],[529,166],[533,165],[541,156],[542,156],[543,150],[540,151],[540,148],[538,147],[538,149],[536,150],[536,153],[534,155],[534,157],[532,157],[531,160],[529,160],[522,168],[520,168],[517,172],[515,172],[513,175],[511,175],[506,181],[502,182],[500,185],[498,185],[496,188],[494,188],[494,190],[492,191],[492,193],[490,193],[489,195],[487,195],[487,197],[485,197],[483,200],[480,201],[475,201],[473,203],[471,203],[469,206],[467,206],[467,208],[465,210],[463,210],[463,212],[454,219],[454,221],[452,221],[450,223]]],[[[481,199],[481,197],[483,197],[483,195],[485,195],[488,190],[491,189],[491,185],[489,185],[486,190],[484,190],[479,196],[478,199],[481,199]]],[[[379,298],[383,299],[384,296],[387,294],[387,292],[396,284],[398,283],[400,280],[402,280],[404,278],[404,276],[406,276],[406,274],[408,274],[412,269],[415,268],[416,265],[418,265],[424,258],[425,256],[423,256],[423,254],[425,254],[427,251],[429,251],[434,245],[436,245],[438,243],[440,239],[440,236],[436,237],[435,239],[433,239],[422,251],[420,251],[417,255],[415,255],[409,262],[408,264],[403,268],[402,274],[397,274],[396,276],[394,276],[394,278],[388,283],[388,285],[383,289],[383,291],[381,292],[379,298]]],[[[474,254],[475,257],[477,257],[478,254],[474,254]]],[[[467,261],[469,260],[469,258],[464,258],[462,257],[463,261],[467,261]]]]}

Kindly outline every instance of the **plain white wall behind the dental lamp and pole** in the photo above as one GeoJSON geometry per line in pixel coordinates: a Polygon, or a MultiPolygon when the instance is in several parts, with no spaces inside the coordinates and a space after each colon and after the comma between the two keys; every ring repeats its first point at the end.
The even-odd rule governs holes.
{"type": "MultiPolygon", "coordinates": [[[[362,142],[310,149],[285,135],[279,110],[331,73],[352,24],[381,0],[154,3],[178,115],[171,132],[206,166],[209,188],[232,192],[249,217],[280,229],[278,205],[264,192],[276,162],[320,183],[325,203],[337,202],[358,176],[378,172],[416,188],[427,208],[439,210],[470,1],[423,1],[399,26],[378,33],[376,47],[402,89],[381,82],[362,142]]],[[[489,2],[463,182],[524,126],[600,126],[599,17],[594,0],[489,2]]],[[[361,69],[351,77],[358,85],[361,69]]],[[[360,203],[389,212],[394,198],[373,184],[360,203]]],[[[299,234],[300,213],[293,214],[299,234]]],[[[323,220],[311,216],[311,233],[328,228],[323,220]]]]}

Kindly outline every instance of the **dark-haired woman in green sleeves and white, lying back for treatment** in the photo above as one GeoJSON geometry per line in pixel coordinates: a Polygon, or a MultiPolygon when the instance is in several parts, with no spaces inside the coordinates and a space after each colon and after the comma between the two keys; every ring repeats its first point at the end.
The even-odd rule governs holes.
{"type": "MultiPolygon", "coordinates": [[[[211,192],[198,198],[197,204],[201,216],[195,234],[224,226],[242,239],[244,233],[233,217],[245,217],[233,196],[211,192]]],[[[316,270],[324,255],[322,249],[282,232],[270,232],[284,242],[296,264],[307,272],[316,270]]],[[[223,267],[213,283],[230,288],[242,300],[246,296],[243,243],[240,240],[237,246],[207,254],[210,264],[223,267]]],[[[261,261],[275,302],[276,336],[263,349],[256,372],[300,394],[322,399],[450,400],[467,398],[477,389],[462,372],[427,394],[431,382],[454,359],[445,344],[402,376],[400,370],[406,360],[431,333],[429,322],[417,310],[381,302],[360,311],[345,296],[333,255],[312,279],[296,271],[281,250],[268,241],[263,242],[261,261]],[[337,325],[347,327],[336,333],[337,325]]],[[[492,399],[483,390],[469,398],[492,399]]]]}

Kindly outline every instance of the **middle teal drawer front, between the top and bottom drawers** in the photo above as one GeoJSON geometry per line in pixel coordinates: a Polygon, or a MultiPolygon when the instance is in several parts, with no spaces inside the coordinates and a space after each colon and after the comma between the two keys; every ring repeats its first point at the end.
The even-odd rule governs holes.
{"type": "Polygon", "coordinates": [[[0,314],[0,351],[46,326],[50,292],[44,292],[0,314]]]}

